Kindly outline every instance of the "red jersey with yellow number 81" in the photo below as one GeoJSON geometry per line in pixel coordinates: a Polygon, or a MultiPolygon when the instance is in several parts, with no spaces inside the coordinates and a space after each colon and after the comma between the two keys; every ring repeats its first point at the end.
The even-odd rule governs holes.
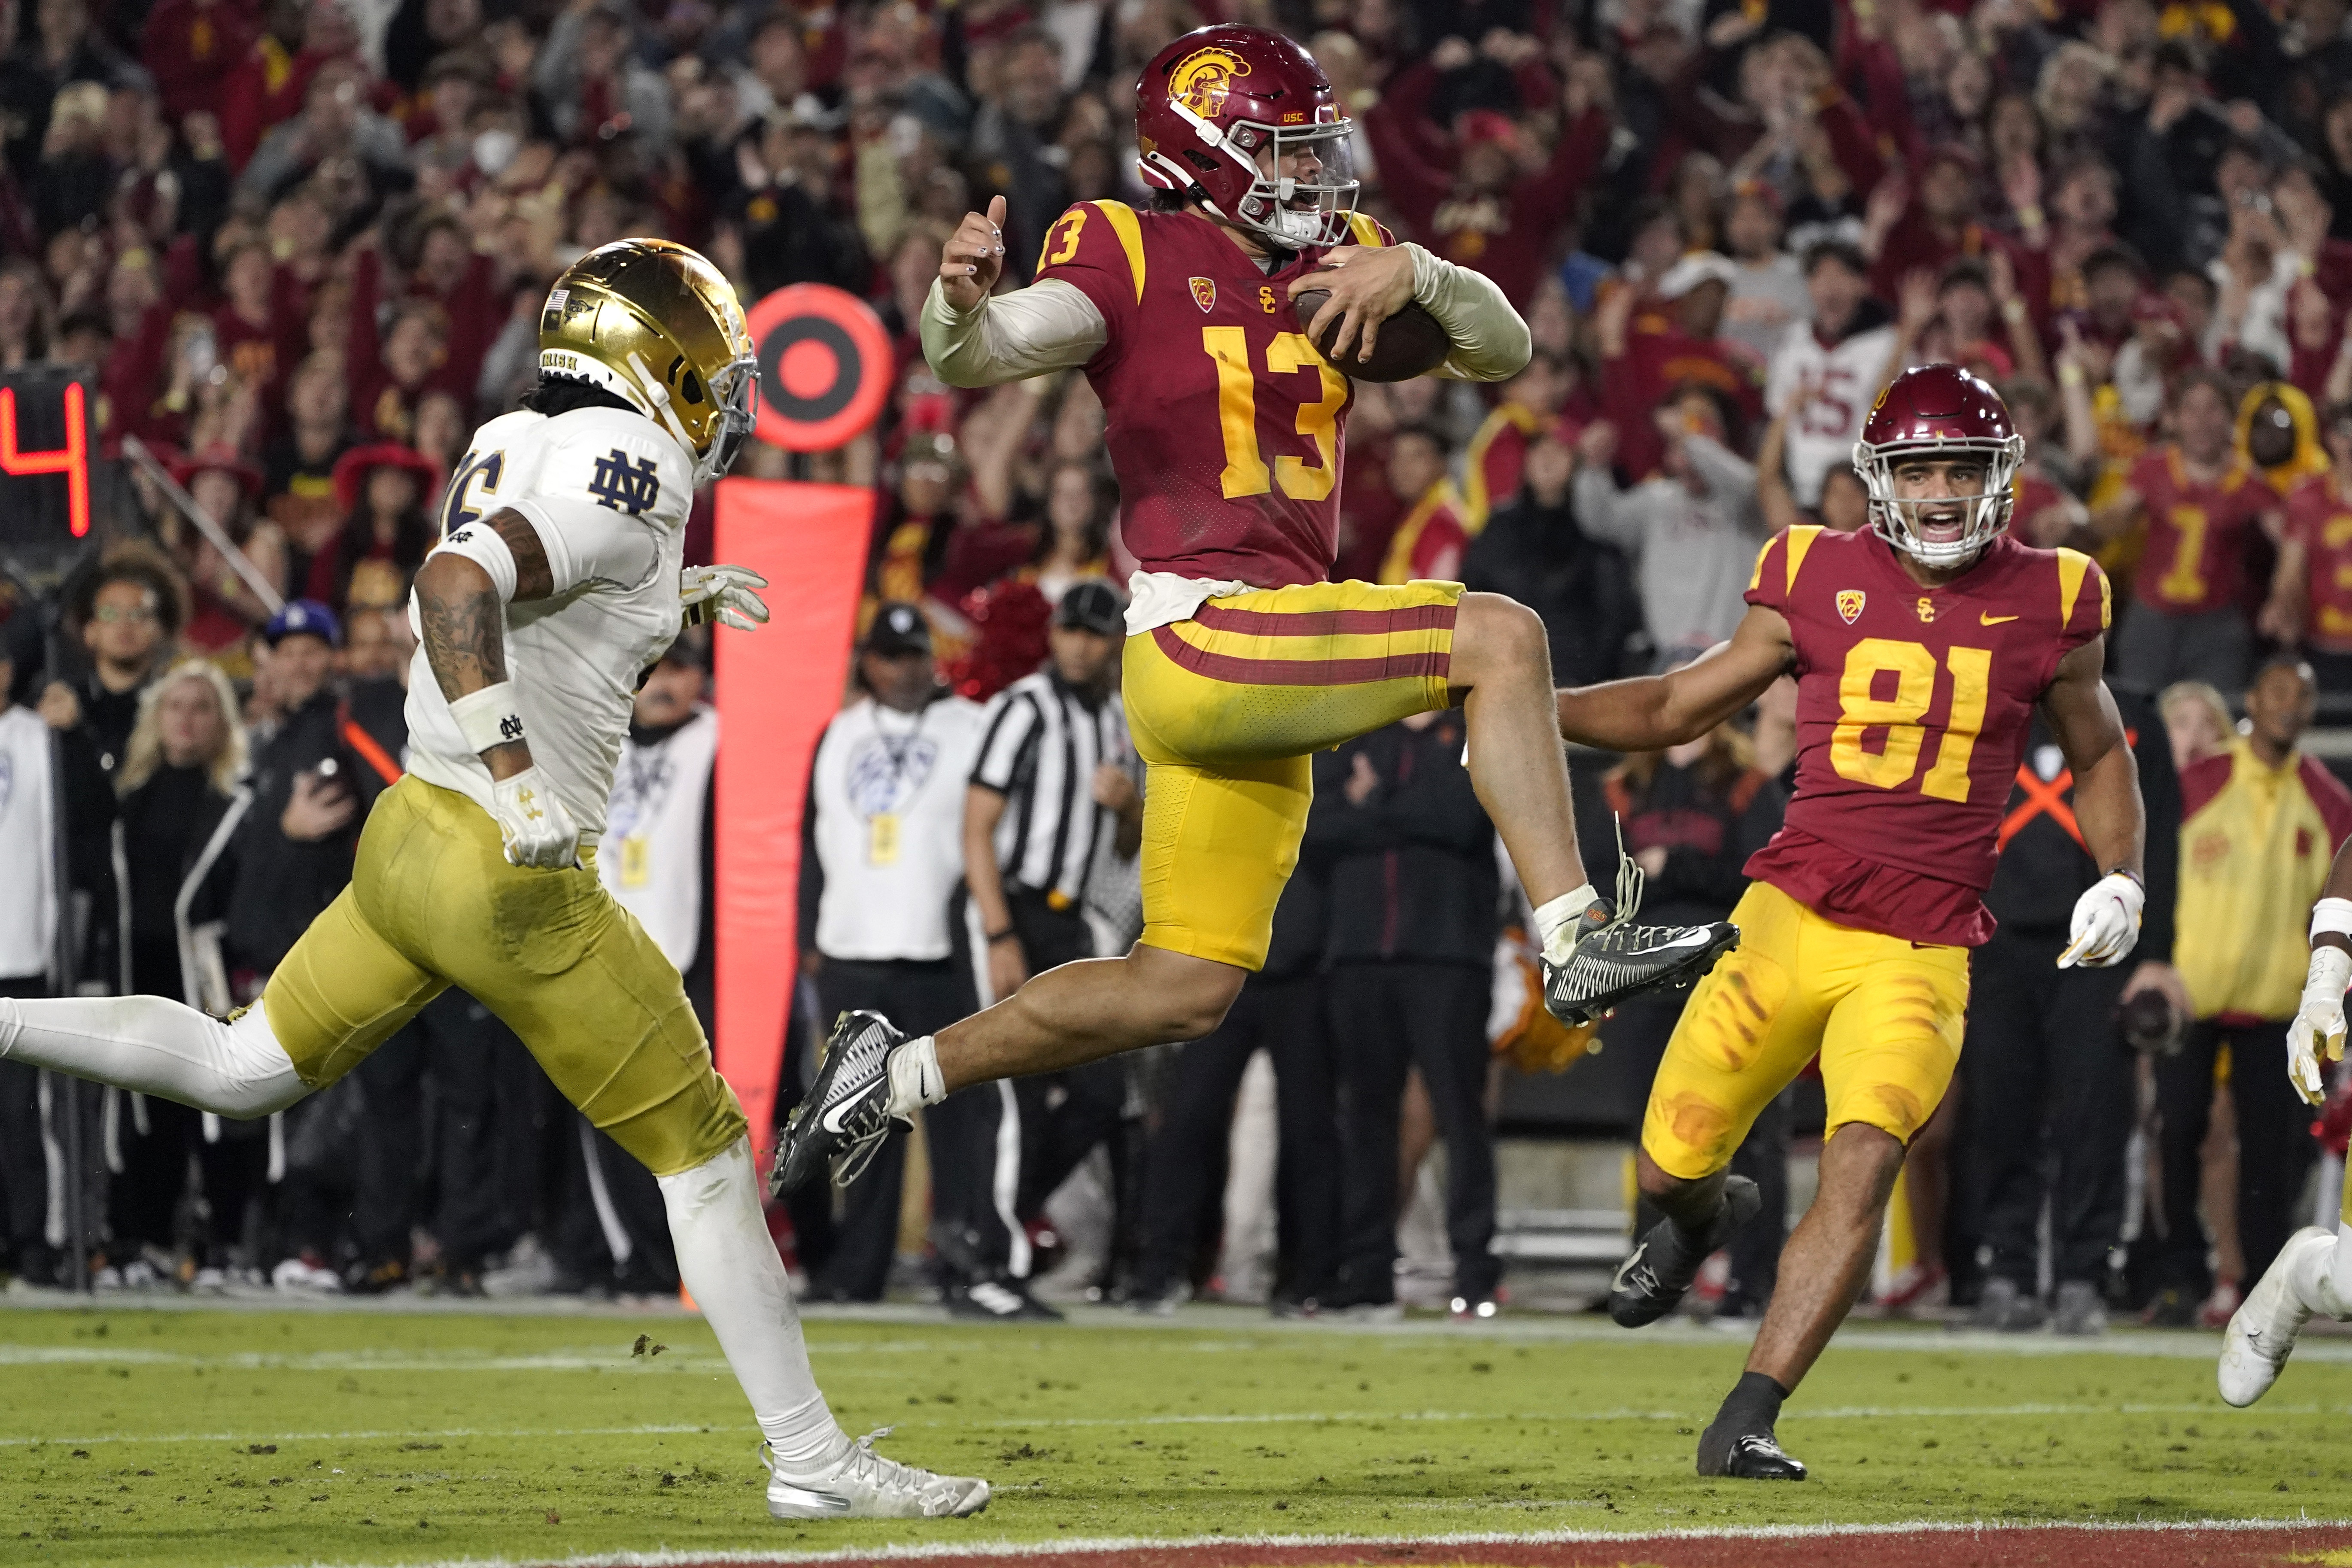
{"type": "Polygon", "coordinates": [[[2058,661],[2107,630],[2089,555],[1997,536],[1922,588],[1870,529],[1795,527],[1748,602],[1797,646],[1797,792],[1748,875],[1844,926],[1973,947],[1992,936],[2009,785],[2058,661]]]}

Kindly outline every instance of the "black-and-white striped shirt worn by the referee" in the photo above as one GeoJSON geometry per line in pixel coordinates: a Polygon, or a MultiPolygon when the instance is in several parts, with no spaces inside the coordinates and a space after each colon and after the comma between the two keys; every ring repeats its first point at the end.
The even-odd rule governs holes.
{"type": "Polygon", "coordinates": [[[1094,769],[1131,764],[1127,710],[1117,693],[1096,708],[1054,670],[1016,679],[988,703],[981,759],[971,783],[1004,797],[997,818],[997,867],[1004,889],[1087,893],[1096,844],[1112,832],[1112,816],[1094,804],[1094,769]]]}

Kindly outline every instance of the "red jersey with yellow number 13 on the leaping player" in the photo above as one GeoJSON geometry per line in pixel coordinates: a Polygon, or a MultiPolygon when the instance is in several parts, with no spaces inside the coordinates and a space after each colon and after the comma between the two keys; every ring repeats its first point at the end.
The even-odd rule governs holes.
{"type": "MultiPolygon", "coordinates": [[[[1355,219],[1357,244],[1390,244],[1355,219]]],[[[1047,230],[1037,280],[1080,289],[1110,341],[1103,400],[1120,536],[1145,571],[1251,588],[1322,583],[1338,552],[1341,442],[1355,383],[1291,308],[1308,249],[1261,273],[1195,212],[1077,202],[1047,230]]]]}

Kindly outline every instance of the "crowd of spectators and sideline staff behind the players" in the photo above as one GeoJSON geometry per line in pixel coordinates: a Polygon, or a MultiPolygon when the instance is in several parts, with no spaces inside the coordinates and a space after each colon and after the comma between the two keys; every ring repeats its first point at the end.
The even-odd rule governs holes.
{"type": "MultiPolygon", "coordinates": [[[[870,435],[736,465],[875,487],[870,630],[835,729],[863,710],[896,745],[938,710],[957,736],[938,830],[906,839],[931,856],[906,929],[821,914],[847,886],[826,811],[863,811],[847,860],[894,860],[913,830],[818,778],[795,1070],[818,997],[955,1016],[1131,938],[1141,771],[1080,646],[1115,637],[1091,583],[1129,569],[1103,407],[1082,374],[957,393],[915,317],[990,195],[1009,287],[1070,202],[1143,197],[1136,71],[1202,21],[1305,40],[1355,120],[1362,207],[1489,273],[1534,331],[1496,388],[1355,388],[1336,576],[1510,592],[1562,684],[1722,639],[1773,531],[1867,527],[1849,449],[1893,369],[1955,360],[2004,393],[2027,442],[2013,529],[2114,581],[2150,917],[2133,964],[2053,969],[2093,867],[2037,733],[1962,1079],[1912,1150],[1882,1295],[1994,1328],[2218,1321],[2352,1124],[2338,1100],[2314,1135],[2281,1070],[2303,912],[2352,832],[2303,750],[2352,715],[2347,0],[7,0],[0,371],[80,374],[99,458],[136,437],[245,562],[127,465],[101,550],[9,590],[0,990],[228,1011],[336,898],[400,769],[402,607],[452,468],[529,388],[550,280],[619,235],[706,249],[746,303],[837,284],[896,346],[870,435]],[[1096,748],[1084,778],[1077,752],[1054,762],[1054,809],[1101,853],[1040,879],[1023,802],[1047,731],[1096,748]],[[887,856],[858,839],[880,816],[887,856]],[[978,919],[934,907],[941,889],[978,919]]],[[[689,559],[708,515],[706,496],[689,559]]],[[[779,595],[767,637],[790,635],[779,595]]],[[[682,642],[640,693],[621,853],[597,867],[706,1018],[708,663],[682,642]]],[[[1661,919],[1719,917],[1778,827],[1792,745],[1783,682],[1689,748],[1581,757],[1595,870],[1606,806],[1661,919]]],[[[1498,1114],[1581,1046],[1529,1004],[1512,900],[1458,717],[1352,743],[1317,759],[1305,875],[1218,1037],[1120,1065],[1112,1091],[1073,1074],[938,1114],[924,1166],[882,1161],[887,1194],[802,1204],[779,1234],[830,1295],[880,1293],[913,1251],[957,1309],[1049,1312],[1030,1288],[1049,1194],[1007,1173],[1011,1126],[1056,1178],[1112,1152],[1084,1284],[1249,1295],[1242,1234],[1263,1225],[1225,1192],[1270,1187],[1258,1293],[1383,1309],[1399,1206],[1437,1190],[1421,1166],[1442,1143],[1437,1298],[1491,1312],[1498,1114]],[[1279,1112],[1251,1110],[1258,1051],[1279,1112]]],[[[1571,1070],[1566,1103],[1578,1074],[1632,1074],[1635,1110],[1585,1131],[1632,1133],[1672,1011],[1628,1006],[1611,1053],[1571,1070]]],[[[1818,1119],[1799,1084],[1740,1154],[1773,1215],[1818,1119]]],[[[108,1286],[659,1293],[675,1269],[649,1194],[461,994],[266,1124],[0,1063],[19,1281],[87,1248],[108,1286]]],[[[1719,1309],[1759,1309],[1778,1234],[1733,1246],[1719,1309]]]]}

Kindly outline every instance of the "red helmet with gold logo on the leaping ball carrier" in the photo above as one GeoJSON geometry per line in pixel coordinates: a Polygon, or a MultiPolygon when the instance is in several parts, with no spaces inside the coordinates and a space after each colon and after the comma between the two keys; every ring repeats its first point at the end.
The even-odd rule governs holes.
{"type": "Polygon", "coordinates": [[[1195,28],[1136,82],[1143,183],[1181,190],[1284,249],[1348,237],[1357,195],[1350,136],[1355,122],[1322,66],[1270,28],[1195,28]]]}

